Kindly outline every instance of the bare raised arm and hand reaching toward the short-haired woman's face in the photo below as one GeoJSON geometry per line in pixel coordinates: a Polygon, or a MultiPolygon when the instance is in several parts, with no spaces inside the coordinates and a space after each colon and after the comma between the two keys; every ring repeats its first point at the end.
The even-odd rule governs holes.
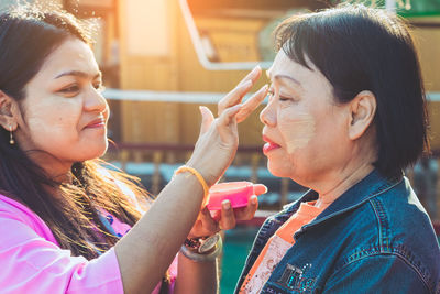
{"type": "MultiPolygon", "coordinates": [[[[187,165],[199,171],[209,186],[224,173],[235,154],[238,120],[248,117],[265,97],[267,87],[263,87],[245,104],[239,105],[260,75],[261,69],[256,68],[244,78],[250,83],[241,83],[228,94],[219,118],[215,119],[208,108],[200,109],[200,137],[187,165]]],[[[141,220],[117,243],[116,252],[125,293],[151,292],[154,288],[195,224],[202,198],[201,185],[194,175],[177,175],[141,220]]],[[[182,262],[179,269],[183,276],[178,277],[177,284],[199,285],[199,290],[194,288],[196,293],[202,288],[217,288],[215,262],[182,262]],[[199,279],[199,273],[204,274],[205,280],[199,279]]]]}

